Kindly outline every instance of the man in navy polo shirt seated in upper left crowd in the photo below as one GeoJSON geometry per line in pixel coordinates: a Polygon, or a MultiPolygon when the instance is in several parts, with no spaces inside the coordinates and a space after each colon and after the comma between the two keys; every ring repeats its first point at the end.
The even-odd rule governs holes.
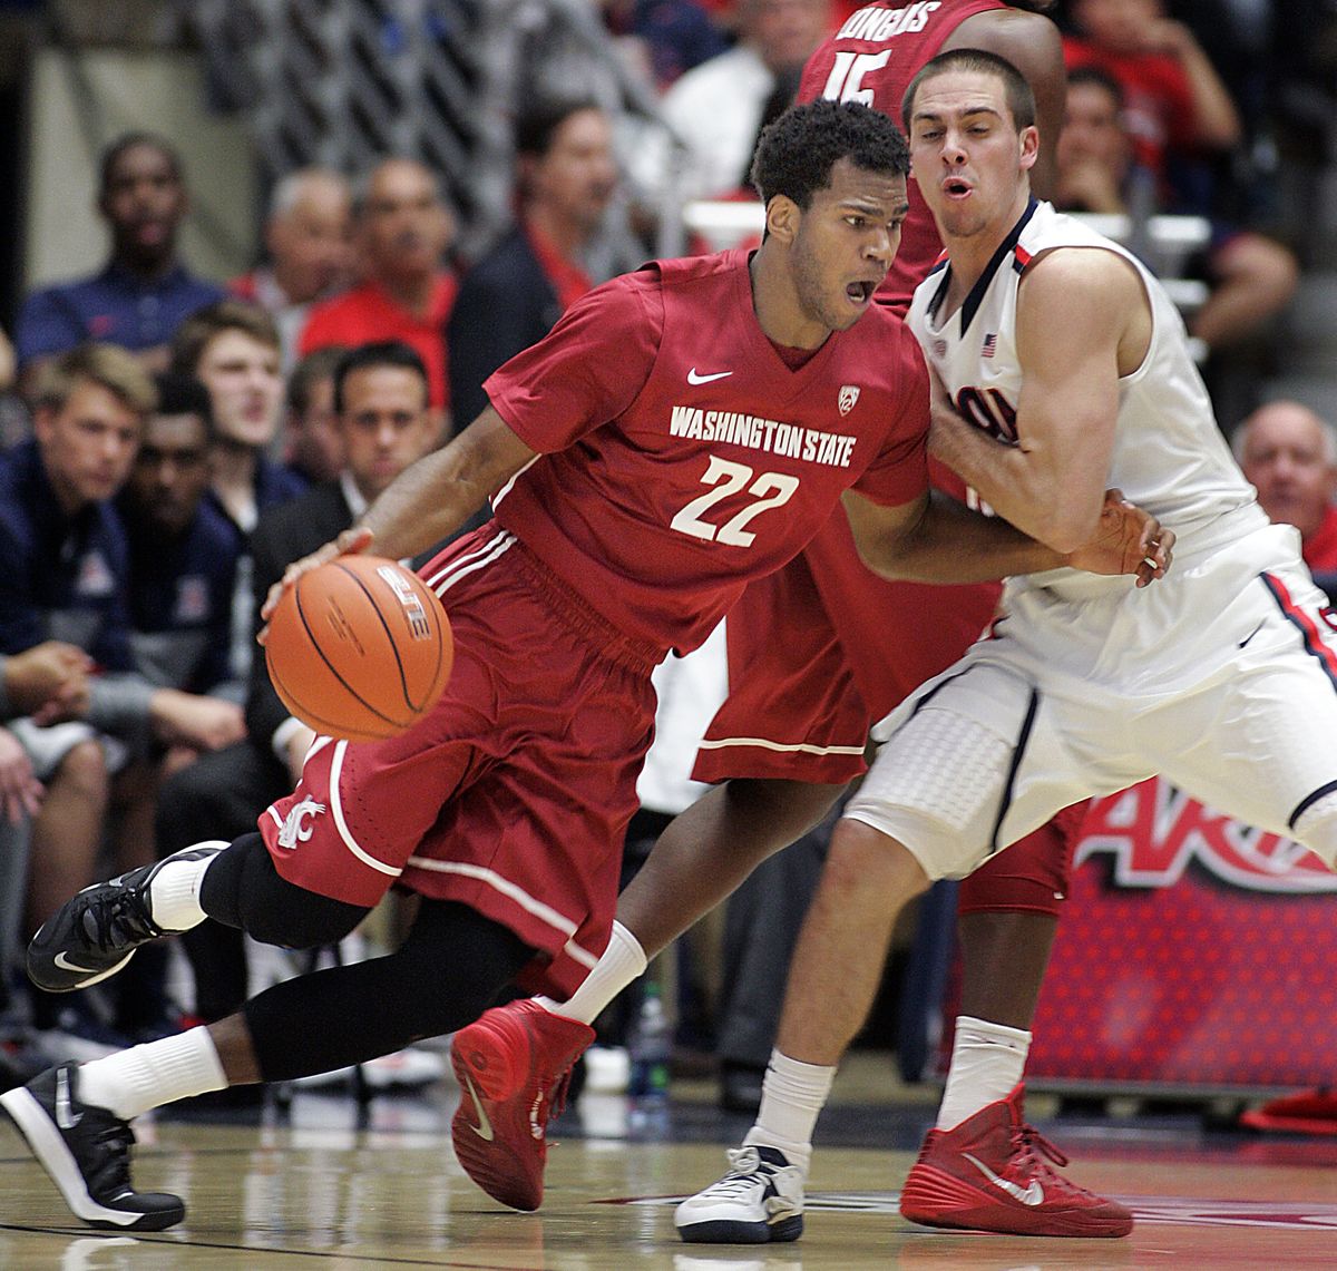
{"type": "Polygon", "coordinates": [[[87,341],[130,349],[151,370],[166,366],[180,322],[223,294],[194,277],[176,254],[189,208],[180,156],[168,142],[130,132],[107,147],[98,211],[111,233],[111,259],[92,278],[28,297],[15,331],[25,394],[44,361],[87,341]]]}

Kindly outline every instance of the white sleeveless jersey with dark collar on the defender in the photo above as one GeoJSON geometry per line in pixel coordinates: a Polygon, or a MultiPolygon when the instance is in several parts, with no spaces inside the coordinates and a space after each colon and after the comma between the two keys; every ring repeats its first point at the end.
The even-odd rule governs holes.
{"type": "MultiPolygon", "coordinates": [[[[1174,529],[1179,560],[1266,524],[1253,486],[1217,428],[1207,390],[1189,357],[1183,322],[1165,289],[1131,253],[1048,203],[1032,200],[957,311],[939,317],[947,293],[947,265],[929,274],[915,293],[910,330],[959,409],[993,436],[1015,440],[1021,389],[1017,287],[1025,266],[1055,247],[1122,255],[1136,267],[1151,298],[1147,356],[1119,381],[1119,416],[1106,485],[1118,486],[1174,529]]],[[[1036,585],[1059,596],[1090,596],[1126,587],[1127,580],[1059,569],[1008,583],[1013,593],[1036,585]]]]}

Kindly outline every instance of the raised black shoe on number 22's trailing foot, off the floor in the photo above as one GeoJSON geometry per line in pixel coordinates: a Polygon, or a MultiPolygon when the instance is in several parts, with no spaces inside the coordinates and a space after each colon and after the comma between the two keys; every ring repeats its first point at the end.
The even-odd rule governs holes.
{"type": "Polygon", "coordinates": [[[60,906],[28,945],[28,978],[48,993],[71,993],[116,974],[135,949],[170,934],[154,922],[148,885],[168,861],[217,855],[225,843],[201,843],[95,882],[60,906]]]}

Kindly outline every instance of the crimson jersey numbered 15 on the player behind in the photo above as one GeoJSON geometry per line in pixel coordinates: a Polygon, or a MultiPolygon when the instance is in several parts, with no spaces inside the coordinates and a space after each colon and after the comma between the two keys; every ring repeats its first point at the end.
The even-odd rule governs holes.
{"type": "MultiPolygon", "coordinates": [[[[798,100],[862,102],[904,128],[901,98],[920,67],[937,56],[943,41],[967,17],[1005,8],[1000,0],[927,0],[858,9],[808,59],[798,100]]],[[[910,210],[901,229],[901,246],[877,293],[880,301],[901,313],[943,250],[933,215],[913,176],[908,186],[910,210]]]]}

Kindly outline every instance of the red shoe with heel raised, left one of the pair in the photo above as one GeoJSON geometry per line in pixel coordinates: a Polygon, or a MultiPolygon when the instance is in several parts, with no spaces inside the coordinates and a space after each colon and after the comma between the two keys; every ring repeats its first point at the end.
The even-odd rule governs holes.
{"type": "Polygon", "coordinates": [[[512,1210],[543,1203],[548,1119],[562,1112],[571,1065],[591,1041],[588,1024],[527,998],[493,1006],[455,1034],[455,1155],[493,1200],[512,1210]]]}

